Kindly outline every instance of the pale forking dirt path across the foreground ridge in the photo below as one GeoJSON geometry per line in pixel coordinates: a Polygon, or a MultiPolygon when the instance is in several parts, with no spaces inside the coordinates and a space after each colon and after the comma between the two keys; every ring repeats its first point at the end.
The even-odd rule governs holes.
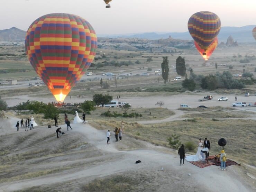
{"type": "MultiPolygon", "coordinates": [[[[90,144],[94,145],[102,152],[112,154],[112,161],[102,162],[100,165],[91,167],[86,167],[85,165],[84,168],[79,171],[73,169],[29,180],[2,183],[0,192],[26,189],[32,186],[49,185],[79,178],[92,180],[111,174],[133,170],[152,170],[152,172],[157,172],[161,167],[164,168],[165,172],[172,173],[171,175],[173,177],[180,177],[179,182],[181,183],[192,183],[195,186],[200,186],[200,188],[196,190],[205,189],[207,191],[215,192],[216,189],[221,188],[222,190],[233,192],[253,191],[242,182],[242,177],[238,176],[236,173],[237,167],[235,166],[229,167],[228,171],[225,172],[220,171],[217,166],[209,166],[201,169],[188,162],[185,162],[185,166],[179,166],[179,158],[177,155],[147,149],[119,151],[117,150],[117,145],[123,141],[115,142],[113,141],[114,139],[112,136],[111,144],[107,145],[106,131],[97,130],[89,124],[76,124],[75,126],[76,128],[72,131],[77,131],[83,134],[89,139],[90,144]],[[140,159],[142,163],[135,164],[135,161],[138,159],[140,159]],[[189,176],[188,173],[190,173],[191,176],[189,176]],[[202,185],[202,183],[204,185],[202,185]]],[[[170,187],[171,186],[172,183],[170,183],[170,187]]],[[[168,190],[166,189],[166,191],[168,190]]]]}

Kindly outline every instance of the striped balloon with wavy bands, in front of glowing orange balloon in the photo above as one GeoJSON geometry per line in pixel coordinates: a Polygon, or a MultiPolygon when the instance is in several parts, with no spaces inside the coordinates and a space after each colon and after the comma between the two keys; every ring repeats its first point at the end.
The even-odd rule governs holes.
{"type": "MultiPolygon", "coordinates": [[[[219,34],[220,27],[220,18],[209,11],[194,13],[188,22],[190,35],[204,51],[207,50],[214,38],[219,34]]],[[[203,52],[203,54],[205,53],[203,52]]]]}

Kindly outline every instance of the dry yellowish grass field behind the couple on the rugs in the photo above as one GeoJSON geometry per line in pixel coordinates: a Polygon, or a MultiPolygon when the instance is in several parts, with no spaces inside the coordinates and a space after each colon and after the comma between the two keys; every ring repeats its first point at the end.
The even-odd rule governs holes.
{"type": "MultiPolygon", "coordinates": [[[[150,125],[127,122],[125,132],[129,136],[162,146],[168,146],[166,139],[172,134],[180,135],[183,144],[192,141],[196,145],[199,138],[208,137],[211,142],[210,155],[220,153],[221,147],[218,146],[218,140],[223,137],[227,140],[225,151],[228,158],[238,163],[244,162],[255,166],[255,156],[252,155],[256,153],[253,147],[256,144],[255,123],[254,120],[212,121],[202,118],[196,118],[195,122],[172,121],[150,125]]],[[[99,129],[106,129],[106,127],[115,127],[117,124],[119,121],[116,120],[95,120],[92,125],[99,129]]]]}

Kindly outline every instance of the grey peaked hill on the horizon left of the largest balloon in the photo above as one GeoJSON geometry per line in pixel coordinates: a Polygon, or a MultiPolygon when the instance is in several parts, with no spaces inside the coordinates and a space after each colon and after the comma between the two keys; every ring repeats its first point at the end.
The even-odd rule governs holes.
{"type": "Polygon", "coordinates": [[[0,30],[0,41],[23,41],[25,36],[26,31],[16,27],[0,30]]]}

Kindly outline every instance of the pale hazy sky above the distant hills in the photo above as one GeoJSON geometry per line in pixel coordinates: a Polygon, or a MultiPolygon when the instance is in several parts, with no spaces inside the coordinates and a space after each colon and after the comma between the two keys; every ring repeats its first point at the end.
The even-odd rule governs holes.
{"type": "Polygon", "coordinates": [[[256,0],[0,0],[0,30],[27,30],[38,17],[48,13],[78,15],[97,34],[185,32],[188,20],[198,11],[216,13],[221,26],[256,24],[256,0]]]}

